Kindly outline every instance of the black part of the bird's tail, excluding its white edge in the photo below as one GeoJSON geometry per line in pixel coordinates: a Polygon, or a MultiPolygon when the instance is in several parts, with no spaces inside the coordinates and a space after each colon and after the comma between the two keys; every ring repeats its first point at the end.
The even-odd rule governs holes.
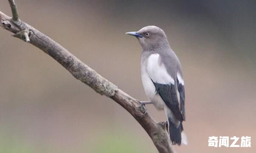
{"type": "Polygon", "coordinates": [[[172,141],[172,144],[180,145],[181,144],[181,132],[183,131],[183,125],[180,123],[180,126],[177,128],[176,125],[172,123],[170,118],[168,118],[169,121],[169,133],[170,133],[170,139],[172,141]]]}

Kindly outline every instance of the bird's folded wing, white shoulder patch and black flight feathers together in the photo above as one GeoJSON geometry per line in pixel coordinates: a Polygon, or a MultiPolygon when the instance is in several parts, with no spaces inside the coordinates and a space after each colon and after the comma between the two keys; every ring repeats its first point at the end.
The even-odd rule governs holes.
{"type": "Polygon", "coordinates": [[[156,94],[160,95],[175,118],[180,121],[185,120],[185,92],[181,75],[178,73],[177,76],[172,77],[160,61],[159,54],[149,56],[147,73],[155,86],[156,94]]]}

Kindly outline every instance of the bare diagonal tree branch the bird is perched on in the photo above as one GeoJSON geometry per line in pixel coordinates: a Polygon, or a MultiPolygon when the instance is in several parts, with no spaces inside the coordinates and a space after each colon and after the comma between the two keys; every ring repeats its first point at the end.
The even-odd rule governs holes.
{"type": "Polygon", "coordinates": [[[29,42],[43,50],[65,67],[76,79],[87,84],[99,94],[115,100],[140,123],[152,139],[159,153],[176,153],[170,142],[166,122],[155,122],[147,113],[145,106],[141,105],[138,100],[118,89],[116,85],[103,78],[51,38],[20,21],[14,0],[8,1],[13,17],[8,17],[0,11],[0,26],[2,28],[14,33],[14,37],[29,42]]]}

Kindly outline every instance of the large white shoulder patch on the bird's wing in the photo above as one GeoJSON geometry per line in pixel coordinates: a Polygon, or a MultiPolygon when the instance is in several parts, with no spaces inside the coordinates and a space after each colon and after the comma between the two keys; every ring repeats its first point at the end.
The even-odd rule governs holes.
{"type": "Polygon", "coordinates": [[[160,63],[159,54],[152,54],[149,56],[146,70],[149,77],[155,83],[174,84],[174,79],[168,74],[165,65],[160,63]]]}

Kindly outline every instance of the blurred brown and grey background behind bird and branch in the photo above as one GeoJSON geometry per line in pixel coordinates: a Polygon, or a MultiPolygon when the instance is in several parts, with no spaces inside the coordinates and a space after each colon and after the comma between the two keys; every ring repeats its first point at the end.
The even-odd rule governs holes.
{"type": "MultiPolygon", "coordinates": [[[[256,152],[255,0],[16,3],[23,21],[139,100],[147,100],[141,47],[124,33],[159,26],[186,82],[189,145],[175,146],[177,152],[256,152]],[[209,136],[251,136],[252,147],[208,147],[209,136]]],[[[8,1],[0,4],[11,15],[8,1]]],[[[11,34],[0,29],[0,153],[157,153],[124,108],[11,34]]],[[[146,107],[155,120],[165,120],[163,112],[146,107]]]]}

